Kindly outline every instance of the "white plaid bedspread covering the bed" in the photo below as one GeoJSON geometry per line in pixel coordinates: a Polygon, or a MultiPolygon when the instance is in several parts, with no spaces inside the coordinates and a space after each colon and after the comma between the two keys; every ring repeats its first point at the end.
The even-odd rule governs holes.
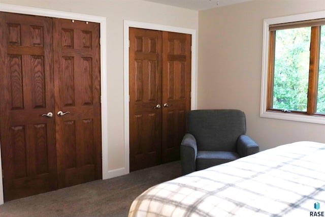
{"type": "Polygon", "coordinates": [[[325,144],[296,142],[156,185],[128,216],[325,216],[325,144]]]}

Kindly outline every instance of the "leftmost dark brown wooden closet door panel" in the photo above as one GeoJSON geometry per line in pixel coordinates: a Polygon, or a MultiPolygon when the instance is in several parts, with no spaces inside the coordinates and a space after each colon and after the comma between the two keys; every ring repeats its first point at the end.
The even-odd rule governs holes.
{"type": "Polygon", "coordinates": [[[52,19],[0,13],[0,139],[5,201],[57,188],[52,19]]]}

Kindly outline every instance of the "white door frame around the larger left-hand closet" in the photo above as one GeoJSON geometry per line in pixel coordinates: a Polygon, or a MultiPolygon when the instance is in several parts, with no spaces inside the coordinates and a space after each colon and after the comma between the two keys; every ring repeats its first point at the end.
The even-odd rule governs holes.
{"type": "MultiPolygon", "coordinates": [[[[93,16],[87,14],[78,14],[65,11],[54,11],[49,9],[32,8],[18,5],[9,5],[0,3],[1,12],[46,16],[46,17],[57,17],[63,19],[82,20],[89,22],[100,23],[101,28],[101,97],[102,97],[102,171],[103,179],[109,178],[108,170],[108,133],[103,132],[103,129],[108,129],[108,111],[107,111],[107,33],[106,33],[106,17],[93,16]]],[[[1,151],[1,150],[0,150],[1,151]]],[[[0,155],[0,168],[1,155],[0,155]]],[[[3,180],[0,179],[0,204],[4,203],[4,192],[3,192],[3,180]]]]}

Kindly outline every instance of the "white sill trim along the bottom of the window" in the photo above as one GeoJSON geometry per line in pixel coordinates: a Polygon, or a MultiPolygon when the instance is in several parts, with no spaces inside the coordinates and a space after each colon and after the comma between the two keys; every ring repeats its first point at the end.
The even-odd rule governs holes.
{"type": "Polygon", "coordinates": [[[321,125],[325,125],[325,117],[317,116],[317,115],[264,111],[264,112],[261,112],[260,116],[267,117],[267,118],[282,119],[282,120],[293,120],[293,121],[300,121],[300,122],[319,123],[321,125]]]}

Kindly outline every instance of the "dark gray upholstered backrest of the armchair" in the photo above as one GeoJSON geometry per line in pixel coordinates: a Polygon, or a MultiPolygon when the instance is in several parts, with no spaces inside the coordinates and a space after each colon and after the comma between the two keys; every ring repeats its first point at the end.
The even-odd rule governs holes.
{"type": "Polygon", "coordinates": [[[187,132],[198,150],[237,151],[237,139],[246,133],[246,117],[236,109],[192,110],[187,113],[187,132]]]}

